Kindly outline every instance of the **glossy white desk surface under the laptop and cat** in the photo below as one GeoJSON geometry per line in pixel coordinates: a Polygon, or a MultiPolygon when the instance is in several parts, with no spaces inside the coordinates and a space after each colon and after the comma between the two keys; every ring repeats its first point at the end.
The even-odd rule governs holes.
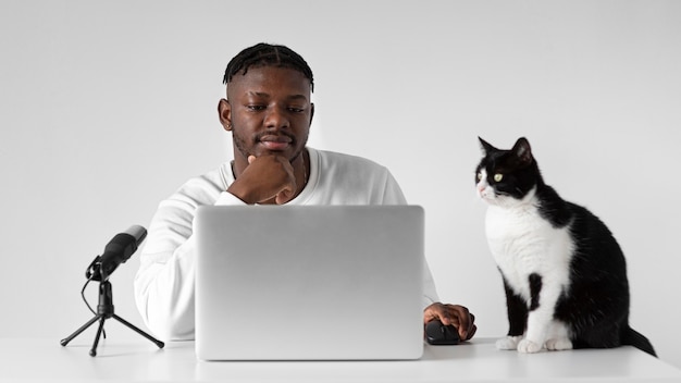
{"type": "Polygon", "coordinates": [[[681,382],[681,370],[631,347],[523,355],[494,341],[429,346],[416,361],[205,362],[193,342],[0,339],[0,382],[681,382]]]}

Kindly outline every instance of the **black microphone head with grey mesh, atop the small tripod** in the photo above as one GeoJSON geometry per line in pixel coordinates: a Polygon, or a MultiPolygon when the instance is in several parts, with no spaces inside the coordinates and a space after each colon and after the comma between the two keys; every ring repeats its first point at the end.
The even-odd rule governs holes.
{"type": "Polygon", "coordinates": [[[104,282],[113,274],[121,263],[125,263],[137,251],[139,244],[147,237],[147,230],[132,225],[123,233],[116,234],[104,247],[101,256],[95,257],[85,271],[88,280],[104,282]]]}

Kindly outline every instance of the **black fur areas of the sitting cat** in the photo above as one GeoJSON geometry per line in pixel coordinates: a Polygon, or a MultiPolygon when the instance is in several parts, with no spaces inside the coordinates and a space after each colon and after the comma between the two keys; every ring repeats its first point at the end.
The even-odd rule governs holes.
{"type": "MultiPolygon", "coordinates": [[[[573,348],[610,348],[632,345],[655,356],[648,339],[629,326],[630,294],[624,256],[607,226],[585,208],[564,200],[546,185],[525,138],[510,150],[499,150],[480,138],[485,156],[476,169],[487,174],[497,196],[522,199],[535,190],[538,215],[555,228],[565,227],[573,246],[569,262],[569,287],[562,289],[554,319],[569,329],[573,348]],[[500,182],[494,174],[504,174],[500,182]]],[[[476,183],[481,181],[476,180],[476,183]]],[[[479,186],[480,187],[480,186],[479,186]]],[[[499,269],[500,270],[500,269],[499,269]]],[[[531,298],[522,298],[506,275],[509,336],[522,336],[528,316],[538,305],[538,294],[550,281],[531,274],[531,298]]]]}

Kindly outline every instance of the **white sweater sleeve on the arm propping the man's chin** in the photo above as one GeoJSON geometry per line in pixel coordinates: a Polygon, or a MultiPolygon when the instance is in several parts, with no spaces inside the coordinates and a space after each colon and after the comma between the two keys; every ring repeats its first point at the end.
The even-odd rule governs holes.
{"type": "Polygon", "coordinates": [[[196,243],[202,205],[243,205],[206,177],[194,178],[159,205],[135,276],[135,300],[147,328],[164,341],[194,338],[196,243]]]}

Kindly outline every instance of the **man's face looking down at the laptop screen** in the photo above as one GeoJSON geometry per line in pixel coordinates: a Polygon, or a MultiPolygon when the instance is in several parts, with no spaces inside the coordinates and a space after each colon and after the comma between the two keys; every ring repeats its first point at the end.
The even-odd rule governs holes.
{"type": "Polygon", "coordinates": [[[275,66],[250,67],[227,85],[220,119],[232,131],[235,161],[276,155],[295,160],[305,149],[314,106],[310,82],[300,72],[275,66]]]}

